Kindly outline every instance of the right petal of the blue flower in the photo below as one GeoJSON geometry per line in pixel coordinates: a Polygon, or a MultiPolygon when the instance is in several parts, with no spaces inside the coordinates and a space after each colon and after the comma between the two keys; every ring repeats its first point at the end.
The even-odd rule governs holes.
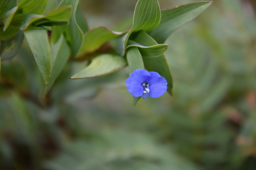
{"type": "Polygon", "coordinates": [[[152,78],[147,82],[148,84],[150,84],[148,86],[148,88],[150,89],[150,92],[148,92],[148,94],[150,94],[151,98],[159,98],[167,90],[167,81],[164,77],[160,76],[158,72],[150,71],[150,74],[152,78]]]}

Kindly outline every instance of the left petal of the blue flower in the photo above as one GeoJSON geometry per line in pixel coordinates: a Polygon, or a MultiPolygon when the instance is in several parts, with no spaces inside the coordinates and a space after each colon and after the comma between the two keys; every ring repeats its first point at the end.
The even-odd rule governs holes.
{"type": "Polygon", "coordinates": [[[145,69],[136,69],[125,81],[128,91],[135,97],[143,94],[142,83],[151,79],[151,74],[145,69]]]}

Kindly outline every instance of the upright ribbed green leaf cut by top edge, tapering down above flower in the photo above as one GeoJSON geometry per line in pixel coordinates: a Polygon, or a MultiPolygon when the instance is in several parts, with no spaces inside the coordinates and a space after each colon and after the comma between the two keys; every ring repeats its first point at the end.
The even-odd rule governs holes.
{"type": "Polygon", "coordinates": [[[126,35],[123,41],[123,48],[120,48],[120,54],[124,55],[124,50],[130,35],[133,32],[144,30],[151,31],[159,25],[161,19],[158,0],[139,0],[136,4],[133,27],[126,35]]]}

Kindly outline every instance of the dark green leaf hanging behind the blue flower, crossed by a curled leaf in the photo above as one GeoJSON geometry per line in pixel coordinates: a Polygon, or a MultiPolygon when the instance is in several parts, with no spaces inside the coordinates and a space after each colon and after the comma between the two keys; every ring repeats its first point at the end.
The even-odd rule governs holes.
{"type": "MultiPolygon", "coordinates": [[[[141,31],[134,40],[142,45],[150,46],[156,45],[157,42],[149,36],[146,32],[141,31]]],[[[148,71],[155,71],[158,72],[159,75],[164,77],[167,81],[167,91],[170,95],[172,95],[173,89],[173,78],[172,74],[170,73],[170,68],[165,58],[165,55],[161,55],[158,57],[144,57],[142,56],[144,66],[148,71]]]]}

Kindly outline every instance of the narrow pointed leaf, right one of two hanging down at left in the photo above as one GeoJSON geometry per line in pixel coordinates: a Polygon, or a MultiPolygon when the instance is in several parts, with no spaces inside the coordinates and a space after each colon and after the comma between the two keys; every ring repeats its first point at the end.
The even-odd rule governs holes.
{"type": "Polygon", "coordinates": [[[70,56],[70,48],[67,42],[65,41],[65,38],[63,37],[63,35],[61,35],[59,37],[59,40],[54,45],[52,45],[51,50],[52,50],[52,55],[51,55],[52,66],[51,66],[49,83],[46,86],[44,96],[46,96],[47,93],[49,92],[54,81],[59,76],[61,70],[65,66],[70,56]]]}

